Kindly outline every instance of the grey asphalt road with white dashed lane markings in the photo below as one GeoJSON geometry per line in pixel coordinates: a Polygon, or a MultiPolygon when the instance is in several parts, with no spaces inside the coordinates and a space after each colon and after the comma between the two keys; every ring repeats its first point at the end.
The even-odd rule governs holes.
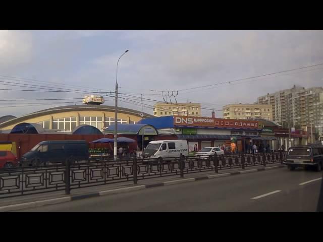
{"type": "Polygon", "coordinates": [[[316,211],[321,183],[322,172],[281,168],[24,211],[316,211]]]}

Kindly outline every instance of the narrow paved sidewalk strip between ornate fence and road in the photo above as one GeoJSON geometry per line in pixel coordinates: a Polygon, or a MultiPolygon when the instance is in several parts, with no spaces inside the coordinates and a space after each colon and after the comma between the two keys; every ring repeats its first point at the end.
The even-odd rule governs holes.
{"type": "MultiPolygon", "coordinates": [[[[27,203],[34,203],[36,201],[43,201],[43,203],[40,203],[38,205],[38,206],[42,206],[42,205],[59,203],[59,202],[67,202],[67,201],[72,201],[77,199],[83,199],[88,197],[103,196],[107,194],[130,192],[130,191],[139,190],[139,189],[173,185],[173,184],[195,181],[200,179],[217,178],[217,177],[222,177],[227,175],[243,174],[248,172],[257,172],[257,171],[265,170],[264,168],[271,169],[271,168],[279,168],[279,167],[282,167],[282,166],[279,163],[275,163],[275,164],[268,164],[266,167],[263,167],[262,165],[250,166],[250,167],[246,167],[245,170],[242,170],[241,168],[219,170],[219,173],[215,173],[214,171],[205,171],[205,172],[198,172],[198,173],[191,173],[191,174],[184,173],[184,178],[181,178],[179,175],[172,175],[168,177],[164,176],[164,177],[155,177],[155,178],[147,178],[147,179],[138,179],[138,185],[134,185],[133,181],[130,180],[130,181],[125,181],[117,184],[99,185],[94,187],[75,189],[75,190],[71,190],[70,195],[65,195],[65,191],[24,195],[20,197],[0,199],[0,211],[8,211],[5,208],[5,206],[10,206],[10,205],[18,206],[18,204],[27,204],[27,203]]],[[[28,207],[28,205],[26,206],[28,207]]],[[[26,208],[26,206],[24,208],[26,208]]],[[[30,204],[30,206],[35,207],[35,204],[30,204]]]]}

